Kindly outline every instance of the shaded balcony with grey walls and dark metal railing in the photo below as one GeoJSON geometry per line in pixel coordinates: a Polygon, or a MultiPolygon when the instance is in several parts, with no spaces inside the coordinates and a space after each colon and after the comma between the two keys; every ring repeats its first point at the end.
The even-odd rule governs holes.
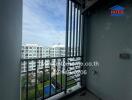
{"type": "Polygon", "coordinates": [[[67,0],[65,54],[21,59],[22,0],[1,0],[0,100],[131,100],[131,12],[131,0],[67,0]]]}

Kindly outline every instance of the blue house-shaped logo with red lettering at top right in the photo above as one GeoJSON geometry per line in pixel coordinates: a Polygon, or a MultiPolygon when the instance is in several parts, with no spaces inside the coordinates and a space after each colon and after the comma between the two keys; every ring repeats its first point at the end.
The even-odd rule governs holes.
{"type": "Polygon", "coordinates": [[[116,5],[110,8],[111,16],[124,16],[125,15],[125,8],[119,5],[116,5]]]}

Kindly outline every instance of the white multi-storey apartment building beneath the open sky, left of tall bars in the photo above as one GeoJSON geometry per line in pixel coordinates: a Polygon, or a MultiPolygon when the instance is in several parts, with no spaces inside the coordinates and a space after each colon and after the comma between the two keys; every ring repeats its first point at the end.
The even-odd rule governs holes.
{"type": "MultiPolygon", "coordinates": [[[[32,58],[46,58],[46,57],[63,57],[65,56],[64,45],[54,45],[52,47],[43,47],[38,44],[25,44],[22,46],[22,59],[32,59],[32,58]]],[[[55,60],[52,61],[52,66],[55,66],[55,60]]],[[[38,70],[43,69],[43,61],[37,62],[38,70]]],[[[49,67],[49,61],[45,61],[45,67],[49,67]]],[[[29,62],[29,71],[35,71],[36,62],[29,62]]],[[[21,73],[26,72],[26,62],[21,65],[21,73]]]]}

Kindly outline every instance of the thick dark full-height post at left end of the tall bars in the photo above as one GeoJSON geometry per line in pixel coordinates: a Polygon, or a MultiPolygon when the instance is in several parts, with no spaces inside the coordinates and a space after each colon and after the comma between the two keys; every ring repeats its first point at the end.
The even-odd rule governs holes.
{"type": "MultiPolygon", "coordinates": [[[[68,25],[69,25],[69,0],[67,0],[66,8],[66,51],[65,51],[65,63],[67,63],[67,54],[68,54],[68,25]]],[[[67,71],[67,65],[65,66],[65,71],[67,71]]],[[[67,74],[65,74],[65,93],[67,92],[67,74]]]]}

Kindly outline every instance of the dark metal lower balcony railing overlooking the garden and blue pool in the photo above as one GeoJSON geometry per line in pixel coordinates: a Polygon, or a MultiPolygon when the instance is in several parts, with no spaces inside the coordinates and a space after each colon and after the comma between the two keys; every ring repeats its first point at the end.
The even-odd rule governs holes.
{"type": "Polygon", "coordinates": [[[21,73],[21,100],[44,100],[61,92],[67,93],[71,87],[81,86],[81,56],[23,59],[23,63],[26,72],[21,73]]]}

